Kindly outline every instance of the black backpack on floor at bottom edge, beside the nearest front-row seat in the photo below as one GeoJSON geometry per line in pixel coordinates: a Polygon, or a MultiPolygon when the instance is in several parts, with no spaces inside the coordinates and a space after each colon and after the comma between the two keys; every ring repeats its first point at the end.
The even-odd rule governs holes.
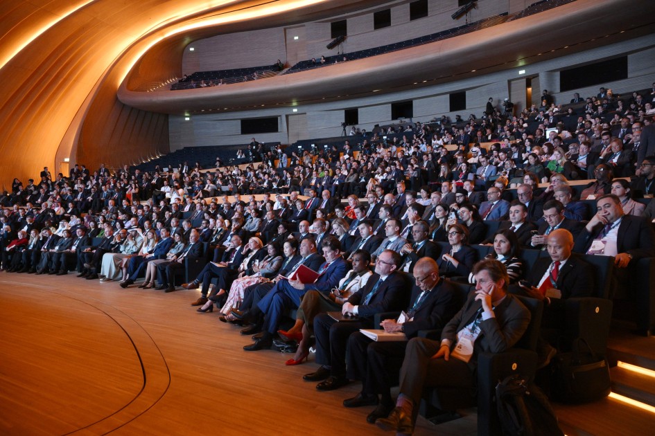
{"type": "Polygon", "coordinates": [[[525,377],[512,375],[498,382],[496,406],[503,435],[564,436],[548,398],[525,377]]]}

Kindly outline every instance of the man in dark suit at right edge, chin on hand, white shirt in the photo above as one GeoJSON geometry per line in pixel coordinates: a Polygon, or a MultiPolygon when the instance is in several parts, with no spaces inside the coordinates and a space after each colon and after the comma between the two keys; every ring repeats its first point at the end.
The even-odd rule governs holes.
{"type": "Polygon", "coordinates": [[[600,197],[596,208],[575,240],[575,253],[613,256],[617,273],[642,257],[655,256],[655,233],[647,219],[625,215],[614,194],[600,197]]]}

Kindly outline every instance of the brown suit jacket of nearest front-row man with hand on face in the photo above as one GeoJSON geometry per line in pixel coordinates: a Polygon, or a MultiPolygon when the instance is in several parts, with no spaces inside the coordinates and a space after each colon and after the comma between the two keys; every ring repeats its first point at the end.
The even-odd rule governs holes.
{"type": "MultiPolygon", "coordinates": [[[[451,319],[442,330],[442,340],[451,344],[457,341],[457,331],[469,325],[474,319],[482,302],[475,300],[475,292],[469,293],[464,307],[451,319]]],[[[480,336],[473,345],[473,357],[469,361],[471,370],[478,365],[480,352],[500,353],[511,348],[521,339],[530,325],[530,311],[518,300],[508,294],[494,309],[494,318],[480,321],[480,336]]]]}

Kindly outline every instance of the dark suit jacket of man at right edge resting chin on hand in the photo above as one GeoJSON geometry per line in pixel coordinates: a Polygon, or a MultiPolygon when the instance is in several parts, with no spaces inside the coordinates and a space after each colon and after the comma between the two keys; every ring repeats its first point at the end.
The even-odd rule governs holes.
{"type": "MultiPolygon", "coordinates": [[[[589,233],[583,228],[577,239],[573,251],[575,253],[586,253],[593,240],[600,236],[603,226],[598,225],[589,233]]],[[[618,253],[628,253],[634,257],[631,264],[642,257],[655,256],[655,233],[649,221],[644,217],[634,215],[623,215],[621,224],[618,226],[616,238],[616,249],[618,253]]]]}

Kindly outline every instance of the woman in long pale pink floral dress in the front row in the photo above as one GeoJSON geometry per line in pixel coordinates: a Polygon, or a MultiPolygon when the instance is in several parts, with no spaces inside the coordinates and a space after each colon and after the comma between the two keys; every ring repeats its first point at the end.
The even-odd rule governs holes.
{"type": "MultiPolygon", "coordinates": [[[[284,253],[291,253],[290,243],[286,242],[284,244],[284,253]]],[[[244,273],[239,274],[238,278],[232,282],[232,286],[229,288],[229,294],[227,296],[227,301],[220,309],[220,313],[224,316],[221,316],[219,319],[226,323],[228,320],[234,318],[229,317],[229,312],[233,308],[238,308],[243,301],[243,295],[245,289],[253,284],[266,282],[270,278],[275,277],[280,267],[282,266],[282,253],[280,245],[277,242],[271,242],[267,246],[268,255],[266,255],[260,262],[256,262],[252,265],[252,268],[244,273]]],[[[213,311],[213,296],[216,295],[216,288],[209,291],[209,298],[202,307],[198,308],[199,312],[213,311]]]]}

